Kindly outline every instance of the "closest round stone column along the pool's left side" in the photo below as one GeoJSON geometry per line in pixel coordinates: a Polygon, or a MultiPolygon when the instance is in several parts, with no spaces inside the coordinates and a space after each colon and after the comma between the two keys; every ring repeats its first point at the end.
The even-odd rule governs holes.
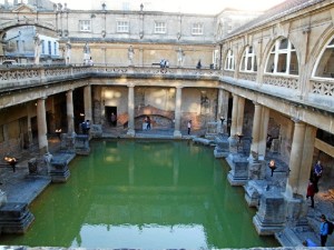
{"type": "Polygon", "coordinates": [[[48,128],[46,114],[46,98],[37,100],[37,127],[38,127],[38,146],[41,154],[49,151],[48,148],[48,128]]]}

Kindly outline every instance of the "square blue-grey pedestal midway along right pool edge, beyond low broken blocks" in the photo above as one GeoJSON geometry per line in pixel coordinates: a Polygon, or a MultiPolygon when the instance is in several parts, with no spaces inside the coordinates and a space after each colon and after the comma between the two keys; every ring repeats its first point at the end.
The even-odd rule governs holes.
{"type": "Polygon", "coordinates": [[[248,180],[248,160],[243,154],[228,154],[226,158],[230,167],[227,179],[232,186],[244,186],[248,180]]]}

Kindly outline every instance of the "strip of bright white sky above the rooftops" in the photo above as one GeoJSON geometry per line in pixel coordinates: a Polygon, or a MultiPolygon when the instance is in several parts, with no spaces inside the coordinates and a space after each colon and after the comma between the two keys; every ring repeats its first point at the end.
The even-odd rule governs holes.
{"type": "Polygon", "coordinates": [[[144,10],[156,10],[183,13],[216,14],[224,8],[235,8],[249,11],[263,11],[281,3],[283,0],[66,0],[57,1],[67,3],[69,9],[101,9],[105,2],[107,10],[121,9],[128,6],[131,10],[139,10],[140,3],[144,10]]]}

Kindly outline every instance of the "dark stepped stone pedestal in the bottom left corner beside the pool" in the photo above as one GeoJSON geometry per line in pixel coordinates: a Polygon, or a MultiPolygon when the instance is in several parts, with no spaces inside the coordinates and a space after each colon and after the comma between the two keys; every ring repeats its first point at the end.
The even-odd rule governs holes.
{"type": "Polygon", "coordinates": [[[27,203],[6,203],[0,208],[0,229],[4,233],[24,233],[35,220],[27,203]]]}

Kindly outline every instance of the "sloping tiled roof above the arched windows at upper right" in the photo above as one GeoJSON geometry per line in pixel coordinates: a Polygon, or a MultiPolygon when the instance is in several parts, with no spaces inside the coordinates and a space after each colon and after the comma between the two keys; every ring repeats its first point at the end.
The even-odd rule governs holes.
{"type": "Polygon", "coordinates": [[[277,6],[273,7],[272,9],[268,9],[267,11],[265,11],[264,14],[259,16],[258,18],[235,29],[226,38],[230,38],[233,36],[242,33],[246,30],[249,30],[252,28],[259,27],[266,22],[274,21],[284,16],[294,13],[298,10],[305,9],[307,7],[314,6],[314,4],[316,4],[318,2],[323,2],[323,1],[325,1],[325,0],[286,0],[277,6]]]}

